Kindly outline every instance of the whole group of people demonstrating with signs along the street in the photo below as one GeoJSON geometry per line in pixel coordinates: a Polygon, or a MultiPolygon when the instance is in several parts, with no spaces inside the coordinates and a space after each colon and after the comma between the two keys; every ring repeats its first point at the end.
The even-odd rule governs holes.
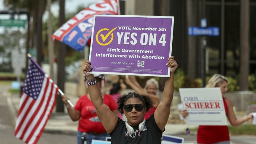
{"type": "MultiPolygon", "coordinates": [[[[104,75],[93,75],[90,61],[86,61],[83,73],[88,94],[81,96],[75,107],[69,106],[67,96],[62,101],[67,107],[68,114],[73,121],[79,120],[77,128],[77,144],[91,144],[92,139],[105,140],[111,137],[112,144],[160,144],[165,125],[170,115],[173,99],[174,72],[178,67],[171,56],[166,66],[171,67],[170,77],[166,77],[163,94],[158,96],[158,82],[154,78],[147,80],[144,88],[141,87],[135,76],[126,76],[109,87],[109,94],[102,93],[104,75]],[[125,81],[125,83],[124,83],[125,81]],[[131,87],[133,91],[121,95],[122,91],[131,87]]],[[[225,97],[228,80],[216,74],[211,77],[207,88],[221,89],[225,112],[229,123],[233,126],[241,125],[252,114],[237,118],[233,111],[232,101],[225,97]]],[[[187,109],[181,111],[187,117],[187,109]]],[[[198,144],[230,144],[229,131],[226,125],[200,125],[197,131],[198,144]]]]}

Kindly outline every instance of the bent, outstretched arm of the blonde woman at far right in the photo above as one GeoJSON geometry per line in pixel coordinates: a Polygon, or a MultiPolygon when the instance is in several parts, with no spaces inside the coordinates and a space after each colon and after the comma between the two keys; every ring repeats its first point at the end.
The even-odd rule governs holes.
{"type": "Polygon", "coordinates": [[[253,112],[250,113],[249,115],[246,115],[245,117],[237,118],[235,115],[235,112],[233,110],[233,104],[232,101],[229,98],[225,98],[227,107],[228,107],[228,112],[227,112],[227,118],[229,119],[229,123],[232,126],[238,126],[242,125],[245,123],[247,120],[253,119],[253,112]]]}

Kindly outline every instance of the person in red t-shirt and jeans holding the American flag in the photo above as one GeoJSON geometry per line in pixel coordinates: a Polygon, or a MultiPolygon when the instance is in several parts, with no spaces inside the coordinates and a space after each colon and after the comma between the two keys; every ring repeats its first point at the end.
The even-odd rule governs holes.
{"type": "MultiPolygon", "coordinates": [[[[95,75],[94,77],[98,82],[96,83],[96,85],[98,86],[98,88],[101,89],[102,83],[104,83],[104,75],[95,75]]],[[[86,82],[90,83],[89,81],[86,82]]],[[[104,104],[106,104],[109,109],[117,115],[117,103],[114,101],[112,96],[103,93],[101,93],[101,95],[104,104]]],[[[67,96],[62,96],[62,101],[67,106],[70,118],[73,121],[79,120],[77,144],[83,143],[83,141],[81,141],[81,138],[85,134],[86,144],[91,144],[92,139],[105,141],[106,137],[109,137],[109,135],[107,134],[106,130],[104,129],[103,125],[99,120],[99,117],[96,113],[96,108],[93,106],[89,94],[81,96],[75,104],[74,109],[72,107],[69,107],[67,99],[67,96]]]]}

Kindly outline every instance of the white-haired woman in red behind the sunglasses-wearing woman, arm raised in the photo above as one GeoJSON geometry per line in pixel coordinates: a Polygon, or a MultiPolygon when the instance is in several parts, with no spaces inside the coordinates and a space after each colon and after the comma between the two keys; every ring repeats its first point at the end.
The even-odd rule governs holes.
{"type": "Polygon", "coordinates": [[[160,103],[160,98],[157,96],[157,90],[159,88],[157,80],[151,78],[147,80],[145,88],[143,89],[139,85],[135,76],[126,77],[125,82],[131,86],[131,88],[140,95],[147,95],[152,99],[152,107],[144,115],[144,119],[148,119],[156,110],[158,104],[160,103]]]}

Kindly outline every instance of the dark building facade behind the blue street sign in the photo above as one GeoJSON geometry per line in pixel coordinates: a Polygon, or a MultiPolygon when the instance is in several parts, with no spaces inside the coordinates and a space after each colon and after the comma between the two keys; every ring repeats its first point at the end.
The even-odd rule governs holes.
{"type": "Polygon", "coordinates": [[[248,70],[243,71],[256,74],[256,0],[245,1],[248,13],[243,13],[242,0],[125,0],[120,4],[125,15],[175,17],[172,53],[179,67],[194,79],[215,73],[236,77],[243,64],[248,65],[248,70]],[[243,19],[246,16],[248,24],[243,19]],[[188,27],[200,27],[203,18],[207,27],[219,27],[219,36],[188,35],[188,27]],[[241,48],[244,39],[241,29],[246,26],[248,50],[241,48]],[[246,51],[247,55],[243,53],[246,51]],[[243,61],[243,57],[248,57],[248,61],[243,61]]]}

